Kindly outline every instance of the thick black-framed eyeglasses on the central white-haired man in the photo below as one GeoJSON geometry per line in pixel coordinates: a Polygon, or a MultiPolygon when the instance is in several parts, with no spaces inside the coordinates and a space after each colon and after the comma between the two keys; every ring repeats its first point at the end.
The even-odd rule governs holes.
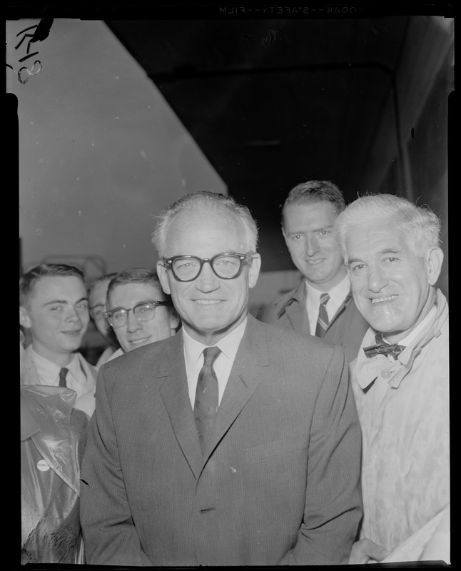
{"type": "Polygon", "coordinates": [[[243,264],[253,257],[253,252],[239,254],[226,252],[216,254],[213,258],[198,258],[197,256],[173,256],[163,258],[166,269],[171,268],[173,276],[178,281],[193,281],[200,275],[203,264],[208,262],[213,272],[223,280],[233,280],[240,276],[243,264]]]}

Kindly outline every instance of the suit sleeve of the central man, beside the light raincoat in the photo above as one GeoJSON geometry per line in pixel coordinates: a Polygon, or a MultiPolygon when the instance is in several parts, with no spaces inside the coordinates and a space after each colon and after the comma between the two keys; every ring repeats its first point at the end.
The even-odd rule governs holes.
{"type": "Polygon", "coordinates": [[[315,403],[303,522],[280,565],[348,563],[363,514],[361,445],[348,365],[337,348],[315,403]]]}

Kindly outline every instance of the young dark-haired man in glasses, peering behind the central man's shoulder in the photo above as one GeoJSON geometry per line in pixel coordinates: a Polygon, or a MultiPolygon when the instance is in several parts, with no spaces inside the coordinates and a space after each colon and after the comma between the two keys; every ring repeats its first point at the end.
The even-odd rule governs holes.
{"type": "Polygon", "coordinates": [[[104,318],[120,343],[108,360],[171,337],[180,325],[170,296],[163,293],[151,268],[128,268],[115,274],[108,284],[106,307],[104,318]]]}

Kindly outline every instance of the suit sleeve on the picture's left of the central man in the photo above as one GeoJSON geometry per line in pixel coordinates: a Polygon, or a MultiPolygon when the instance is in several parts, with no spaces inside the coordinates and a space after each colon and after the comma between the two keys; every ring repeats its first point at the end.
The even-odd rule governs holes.
{"type": "Polygon", "coordinates": [[[88,428],[81,468],[81,526],[86,563],[151,566],[142,550],[126,497],[104,369],[98,373],[96,411],[88,428]]]}

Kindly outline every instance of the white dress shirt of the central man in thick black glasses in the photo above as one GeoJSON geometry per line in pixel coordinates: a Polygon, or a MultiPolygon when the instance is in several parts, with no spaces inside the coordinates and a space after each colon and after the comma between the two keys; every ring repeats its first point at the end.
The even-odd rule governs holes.
{"type": "MultiPolygon", "coordinates": [[[[240,325],[231,331],[231,333],[228,333],[228,335],[220,339],[218,343],[211,345],[221,349],[221,353],[213,364],[213,369],[216,373],[216,378],[218,379],[219,404],[221,404],[221,399],[223,398],[224,389],[226,388],[229,375],[231,374],[235,355],[237,354],[238,346],[240,345],[243,333],[245,332],[246,321],[247,320],[245,318],[240,325]]],[[[191,400],[191,406],[193,408],[193,404],[196,400],[198,374],[203,367],[203,349],[206,349],[208,345],[203,345],[200,341],[193,339],[184,328],[183,340],[189,399],[191,400]]]]}

